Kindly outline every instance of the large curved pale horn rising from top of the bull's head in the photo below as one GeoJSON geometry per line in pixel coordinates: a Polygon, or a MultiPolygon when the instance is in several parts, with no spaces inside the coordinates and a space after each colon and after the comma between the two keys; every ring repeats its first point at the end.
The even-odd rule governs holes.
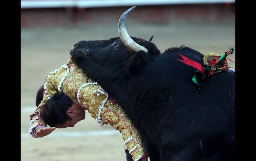
{"type": "Polygon", "coordinates": [[[122,40],[122,42],[124,43],[124,45],[133,53],[137,53],[138,51],[141,51],[141,50],[148,53],[148,49],[146,47],[141,46],[141,45],[137,44],[134,40],[132,40],[132,38],[128,35],[126,28],[125,28],[126,17],[134,8],[135,8],[135,6],[128,9],[120,17],[119,22],[118,22],[118,35],[119,35],[120,39],[122,40]]]}

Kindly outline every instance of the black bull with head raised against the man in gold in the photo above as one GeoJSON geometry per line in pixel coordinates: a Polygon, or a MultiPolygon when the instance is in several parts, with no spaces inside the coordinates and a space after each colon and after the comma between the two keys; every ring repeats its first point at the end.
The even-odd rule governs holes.
{"type": "MultiPolygon", "coordinates": [[[[79,41],[71,59],[112,95],[138,129],[150,160],[235,160],[235,71],[192,82],[203,55],[181,46],[160,53],[154,43],[132,38],[148,53],[131,52],[120,38],[79,41]]],[[[205,66],[204,66],[205,67],[205,66]]]]}

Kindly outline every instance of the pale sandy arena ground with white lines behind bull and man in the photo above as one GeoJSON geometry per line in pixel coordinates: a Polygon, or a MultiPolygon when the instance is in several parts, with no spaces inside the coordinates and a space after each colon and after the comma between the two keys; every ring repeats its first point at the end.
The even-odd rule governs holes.
{"type": "MultiPolygon", "coordinates": [[[[130,36],[149,39],[154,35],[153,41],[161,52],[182,44],[203,54],[223,54],[229,46],[235,47],[235,22],[126,24],[130,36]]],[[[113,37],[117,37],[117,24],[21,29],[21,161],[126,160],[121,134],[110,125],[99,127],[87,113],[86,119],[73,128],[56,129],[45,138],[28,135],[36,92],[49,72],[66,63],[73,44],[113,37]],[[82,136],[76,136],[76,132],[82,136]]],[[[229,58],[235,61],[235,50],[229,58]]],[[[234,63],[228,63],[235,68],[234,63]]]]}

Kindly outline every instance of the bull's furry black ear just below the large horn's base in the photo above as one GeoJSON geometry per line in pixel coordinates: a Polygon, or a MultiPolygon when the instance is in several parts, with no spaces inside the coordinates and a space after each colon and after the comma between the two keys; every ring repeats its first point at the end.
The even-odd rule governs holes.
{"type": "Polygon", "coordinates": [[[144,51],[139,51],[135,54],[128,54],[125,57],[125,67],[123,70],[126,74],[130,75],[134,71],[149,63],[149,61],[150,58],[148,54],[144,51]]]}

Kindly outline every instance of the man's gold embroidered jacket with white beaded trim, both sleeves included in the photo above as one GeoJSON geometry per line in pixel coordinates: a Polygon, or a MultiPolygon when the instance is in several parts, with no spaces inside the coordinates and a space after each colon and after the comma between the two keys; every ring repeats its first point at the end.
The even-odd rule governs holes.
{"type": "Polygon", "coordinates": [[[55,93],[63,91],[73,102],[84,110],[88,110],[91,117],[103,126],[109,123],[122,134],[123,140],[132,155],[133,160],[147,156],[141,137],[133,123],[127,117],[119,104],[108,99],[108,94],[99,84],[88,78],[71,60],[67,61],[60,69],[50,73],[45,83],[45,94],[41,104],[34,114],[30,116],[29,133],[37,137],[34,130],[39,126],[46,127],[40,118],[39,111],[43,104],[55,93]]]}

